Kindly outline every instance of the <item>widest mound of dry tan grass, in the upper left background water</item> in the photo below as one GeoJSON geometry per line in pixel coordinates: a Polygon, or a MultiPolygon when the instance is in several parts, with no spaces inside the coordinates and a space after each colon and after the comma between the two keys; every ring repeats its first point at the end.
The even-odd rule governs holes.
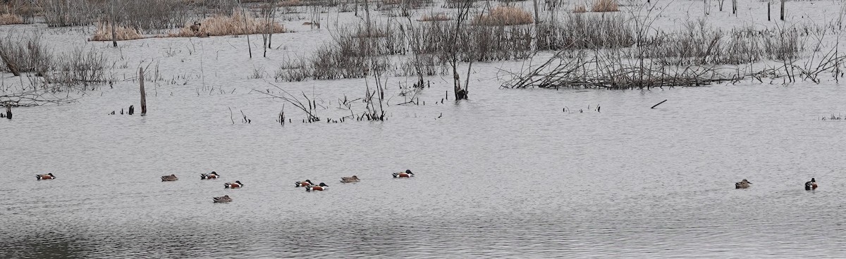
{"type": "Polygon", "coordinates": [[[255,19],[249,13],[244,19],[244,13],[241,12],[233,13],[232,16],[217,15],[206,18],[200,24],[200,28],[196,32],[191,30],[192,24],[185,24],[179,31],[168,34],[168,37],[262,34],[268,30],[268,25],[272,33],[285,32],[285,27],[282,24],[267,24],[266,20],[255,19]]]}

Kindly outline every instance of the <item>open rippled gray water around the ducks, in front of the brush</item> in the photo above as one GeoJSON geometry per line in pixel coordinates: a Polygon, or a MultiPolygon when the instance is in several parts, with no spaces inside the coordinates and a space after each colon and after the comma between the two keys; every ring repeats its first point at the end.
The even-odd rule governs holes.
{"type": "Polygon", "coordinates": [[[129,89],[17,109],[0,120],[0,257],[846,254],[846,122],[818,120],[846,111],[840,86],[474,86],[431,105],[447,88],[433,86],[384,122],[281,127],[280,100],[194,89],[149,97],[148,116],[106,115],[129,89]],[[235,105],[253,122],[233,125],[235,105]],[[294,188],[305,179],[330,189],[294,188]]]}

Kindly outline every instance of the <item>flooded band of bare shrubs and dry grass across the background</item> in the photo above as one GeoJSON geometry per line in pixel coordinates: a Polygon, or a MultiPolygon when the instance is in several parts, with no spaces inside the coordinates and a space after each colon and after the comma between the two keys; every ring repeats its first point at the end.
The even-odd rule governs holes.
{"type": "MultiPolygon", "coordinates": [[[[814,2],[792,3],[782,9],[789,13],[791,8],[804,8],[810,3],[814,2]]],[[[763,11],[740,14],[737,1],[730,7],[724,4],[616,0],[12,0],[3,3],[0,24],[82,28],[90,31],[87,40],[113,41],[113,46],[121,40],[247,35],[244,56],[282,58],[275,59],[272,67],[255,67],[244,76],[275,81],[265,84],[275,91],[268,89],[263,94],[304,112],[305,119],[300,121],[306,122],[385,120],[388,105],[425,104],[418,96],[429,90],[430,79],[435,77],[449,78],[450,89],[441,103],[469,99],[470,78],[479,66],[500,69],[497,78],[505,89],[821,84],[837,83],[843,76],[846,55],[838,46],[844,11],[826,19],[789,14],[781,19],[784,15],[775,8],[777,3],[742,3],[750,10],[773,6],[765,20],[763,11]],[[667,11],[680,5],[688,11],[667,11]],[[748,15],[755,22],[726,24],[716,18],[743,21],[740,15],[748,15]],[[330,37],[297,55],[280,54],[273,35],[278,39],[278,34],[304,33],[288,29],[286,24],[292,23],[308,25],[307,30],[326,31],[330,37]],[[259,42],[261,51],[254,50],[250,40],[259,42]],[[497,63],[503,65],[492,66],[497,63]],[[316,96],[284,87],[288,82],[349,78],[363,79],[365,94],[350,98],[344,94],[337,106],[345,107],[350,114],[338,117],[316,115],[335,106],[331,102],[321,104],[316,96]],[[410,82],[400,84],[398,93],[386,91],[393,78],[410,82]],[[393,99],[394,95],[402,100],[397,102],[399,98],[393,99]],[[362,108],[356,112],[354,105],[362,108]]],[[[122,62],[123,54],[107,55],[91,46],[67,49],[43,40],[41,34],[12,29],[0,38],[3,73],[21,78],[4,80],[0,87],[2,105],[74,101],[70,96],[111,86],[120,77],[118,71],[131,68],[128,62],[122,62]]],[[[182,51],[193,55],[197,46],[194,40],[190,42],[190,48],[168,50],[165,56],[182,51]]],[[[202,69],[200,75],[165,78],[153,62],[140,68],[152,70],[145,73],[143,81],[187,84],[200,79],[206,89],[202,69]]],[[[120,80],[126,81],[123,77],[120,80]]],[[[291,121],[284,114],[281,111],[277,120],[282,124],[291,121]]]]}

